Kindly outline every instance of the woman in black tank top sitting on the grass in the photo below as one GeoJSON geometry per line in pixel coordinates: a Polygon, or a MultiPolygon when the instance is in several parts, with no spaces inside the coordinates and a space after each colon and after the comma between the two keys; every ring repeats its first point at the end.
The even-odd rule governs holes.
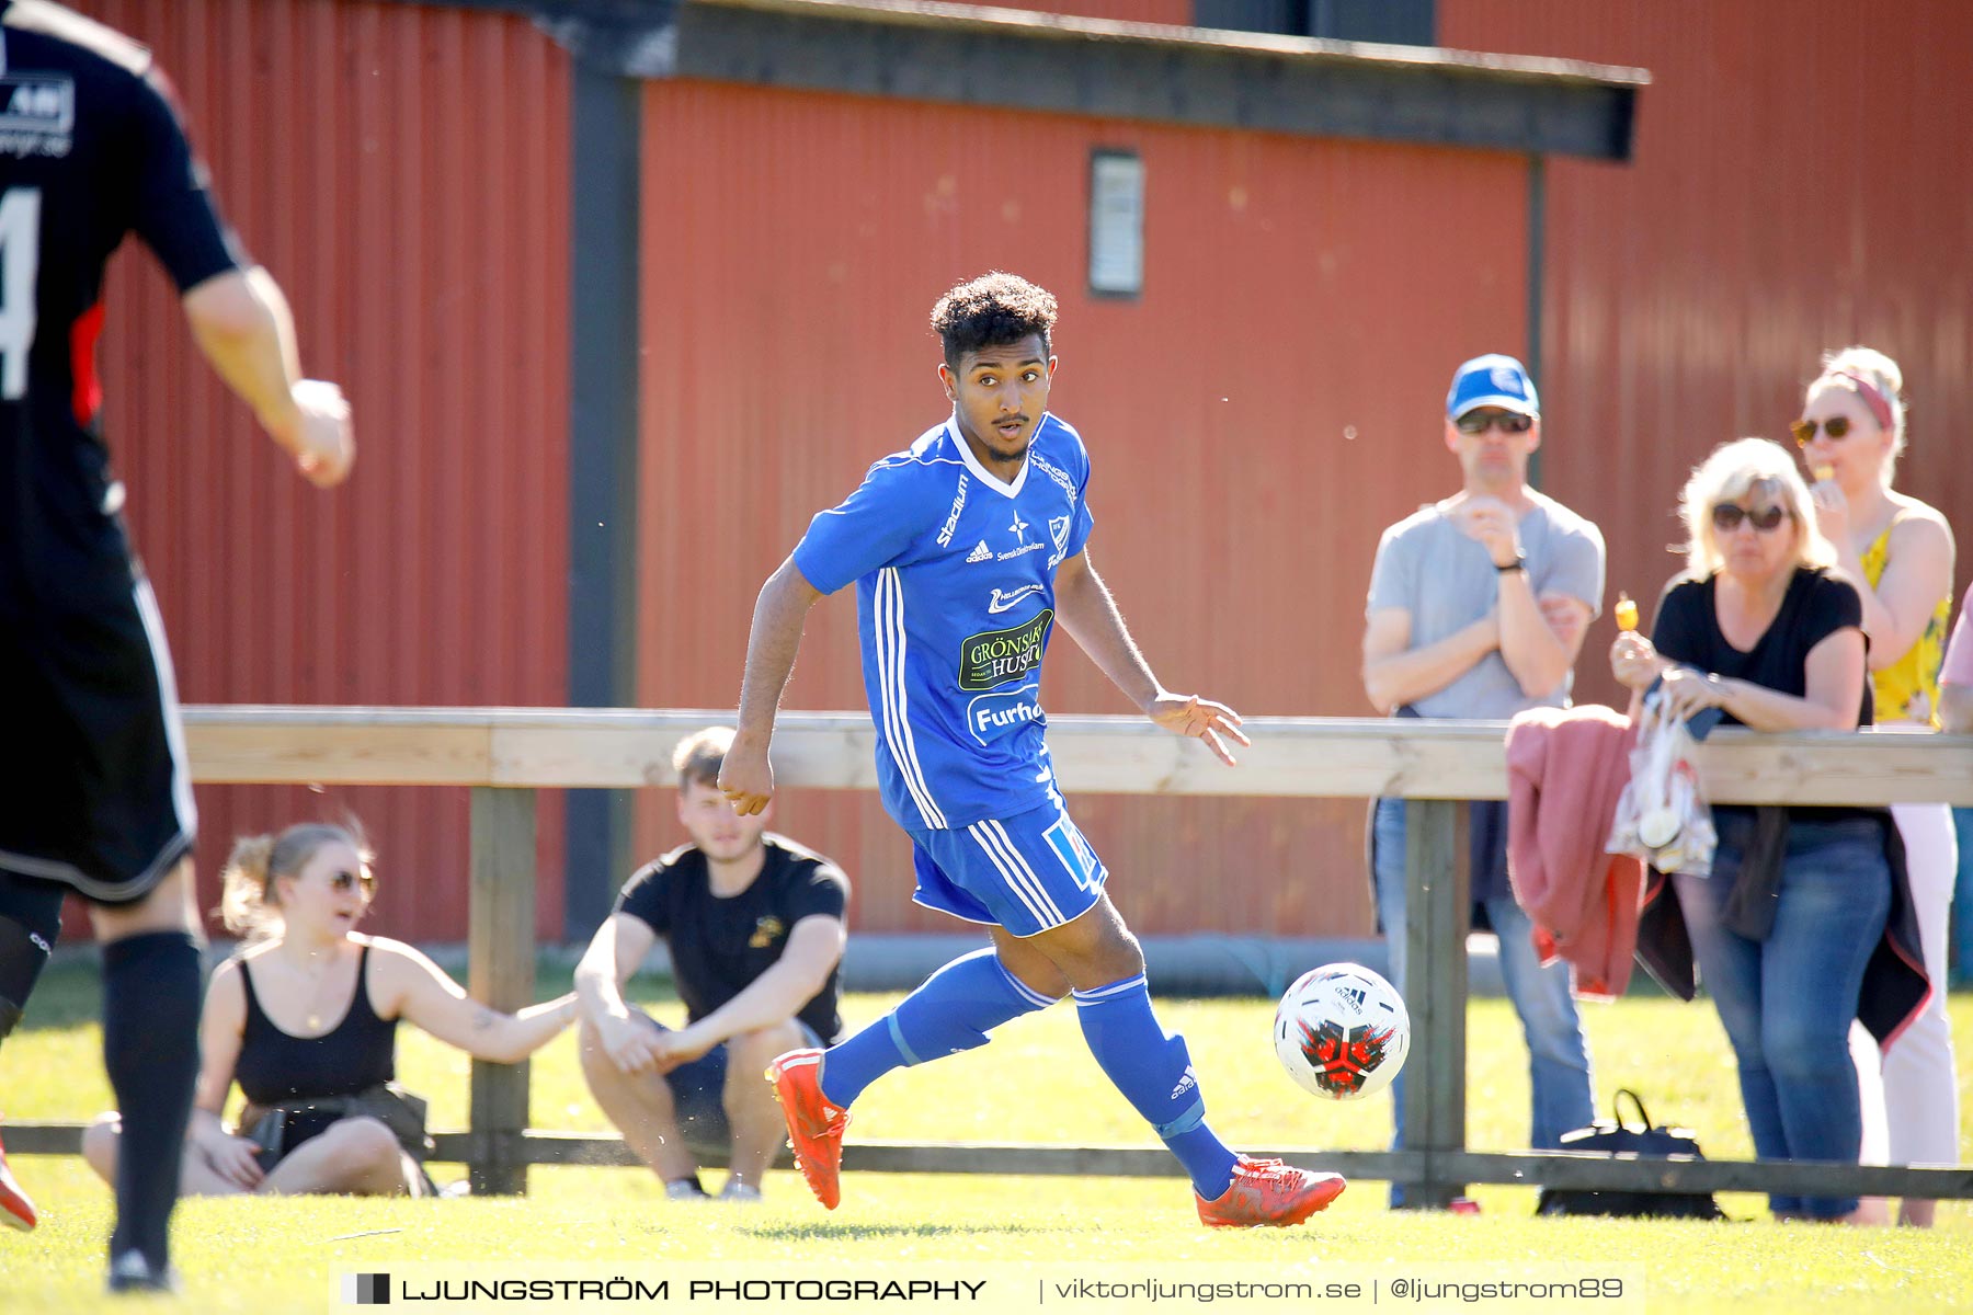
{"type": "MultiPolygon", "coordinates": [[[[205,992],[183,1195],[422,1195],[428,1179],[404,1145],[422,1130],[349,1110],[395,1104],[377,1092],[395,1076],[399,1019],[495,1063],[527,1059],[574,1021],[574,996],[499,1013],[412,946],[357,934],[375,893],[369,862],[353,834],[320,822],[233,846],[221,917],[247,944],[205,992]],[[221,1124],[235,1080],[247,1096],[241,1132],[264,1126],[260,1142],[221,1124]]],[[[83,1155],[112,1183],[116,1142],[114,1114],[83,1136],[83,1155]]]]}

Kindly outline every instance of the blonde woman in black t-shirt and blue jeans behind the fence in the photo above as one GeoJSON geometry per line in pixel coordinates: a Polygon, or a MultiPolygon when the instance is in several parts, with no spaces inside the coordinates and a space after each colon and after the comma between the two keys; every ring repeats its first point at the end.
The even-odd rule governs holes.
{"type": "MultiPolygon", "coordinates": [[[[1793,457],[1758,438],[1724,444],[1685,483],[1687,570],[1665,586],[1651,639],[1610,651],[1636,714],[1657,686],[1671,712],[1718,708],[1762,731],[1870,724],[1863,603],[1833,568],[1793,457]]],[[[1677,873],[1647,893],[1640,952],[1689,938],[1671,962],[1691,998],[1691,960],[1740,1067],[1760,1159],[1857,1159],[1863,1116],[1849,1063],[1851,1019],[1896,1035],[1924,1000],[1902,854],[1882,808],[1713,810],[1711,877],[1677,873]],[[1677,925],[1683,923],[1683,929],[1677,925]],[[1886,927],[1896,931],[1886,946],[1886,927]]],[[[1772,1195],[1778,1216],[1851,1220],[1855,1197],[1772,1195]]]]}

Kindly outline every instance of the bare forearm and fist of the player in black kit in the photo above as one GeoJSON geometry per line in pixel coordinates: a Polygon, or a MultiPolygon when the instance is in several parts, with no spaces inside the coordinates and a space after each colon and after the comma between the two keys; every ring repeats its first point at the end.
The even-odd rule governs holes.
{"type": "Polygon", "coordinates": [[[262,268],[229,270],[182,298],[199,351],[233,392],[253,406],[296,467],[316,487],[339,485],[355,461],[349,402],[341,388],[302,379],[294,315],[262,268]]]}

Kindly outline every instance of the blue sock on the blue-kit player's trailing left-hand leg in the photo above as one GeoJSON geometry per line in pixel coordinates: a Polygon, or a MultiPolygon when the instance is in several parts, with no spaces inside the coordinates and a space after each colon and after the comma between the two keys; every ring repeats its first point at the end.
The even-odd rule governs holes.
{"type": "Polygon", "coordinates": [[[975,950],[945,964],[898,1007],[829,1051],[823,1096],[848,1108],[892,1069],[921,1065],[986,1045],[986,1033],[1022,1013],[1056,1004],[1018,982],[1000,958],[975,950]]]}

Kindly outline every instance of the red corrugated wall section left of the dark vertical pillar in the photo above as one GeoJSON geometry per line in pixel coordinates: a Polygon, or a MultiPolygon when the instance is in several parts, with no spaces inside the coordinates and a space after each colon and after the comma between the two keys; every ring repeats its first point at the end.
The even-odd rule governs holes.
{"type": "MultiPolygon", "coordinates": [[[[107,434],[187,702],[562,704],[568,574],[568,59],[525,18],[298,0],[81,0],[172,73],[227,217],[351,396],[351,481],[316,493],[122,254],[107,434]]],[[[365,822],[375,925],[466,934],[466,791],[207,787],[229,840],[365,822]]],[[[541,828],[543,934],[562,826],[541,828]]]]}

